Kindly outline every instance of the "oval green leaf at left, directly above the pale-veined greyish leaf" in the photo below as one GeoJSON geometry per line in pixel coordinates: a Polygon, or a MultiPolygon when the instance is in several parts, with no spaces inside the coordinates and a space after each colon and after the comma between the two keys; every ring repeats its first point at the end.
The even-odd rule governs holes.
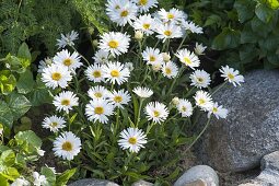
{"type": "Polygon", "coordinates": [[[24,73],[21,73],[16,83],[18,92],[21,94],[27,94],[33,90],[34,83],[33,73],[30,70],[26,70],[24,73]]]}

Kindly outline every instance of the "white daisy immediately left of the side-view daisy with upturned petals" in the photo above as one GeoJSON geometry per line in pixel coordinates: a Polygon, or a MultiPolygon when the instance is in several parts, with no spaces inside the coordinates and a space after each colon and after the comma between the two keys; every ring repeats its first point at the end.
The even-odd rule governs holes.
{"type": "Polygon", "coordinates": [[[127,105],[131,101],[131,96],[128,91],[114,90],[112,93],[108,94],[108,101],[115,106],[124,108],[123,105],[127,105]]]}

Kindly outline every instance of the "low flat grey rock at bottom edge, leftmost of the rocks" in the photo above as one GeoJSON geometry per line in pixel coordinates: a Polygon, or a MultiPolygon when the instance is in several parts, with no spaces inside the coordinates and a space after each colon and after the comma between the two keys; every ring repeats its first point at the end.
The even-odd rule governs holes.
{"type": "Polygon", "coordinates": [[[119,186],[119,185],[105,179],[86,178],[71,183],[69,186],[119,186]]]}

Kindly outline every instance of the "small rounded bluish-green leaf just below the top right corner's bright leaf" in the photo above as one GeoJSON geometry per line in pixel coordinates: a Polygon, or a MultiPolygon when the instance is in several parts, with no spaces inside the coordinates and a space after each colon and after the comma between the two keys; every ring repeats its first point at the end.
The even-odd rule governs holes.
{"type": "Polygon", "coordinates": [[[270,21],[270,19],[272,18],[274,15],[274,10],[268,7],[267,4],[265,3],[258,3],[256,5],[256,9],[255,9],[255,13],[257,15],[257,18],[265,22],[265,23],[268,23],[270,21]]]}

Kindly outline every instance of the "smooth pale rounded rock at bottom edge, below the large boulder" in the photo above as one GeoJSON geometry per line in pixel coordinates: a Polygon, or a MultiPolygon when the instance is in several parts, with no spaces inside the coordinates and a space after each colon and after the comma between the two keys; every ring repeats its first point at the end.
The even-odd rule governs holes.
{"type": "MultiPolygon", "coordinates": [[[[195,182],[204,182],[207,186],[218,186],[219,177],[213,168],[207,165],[197,165],[186,171],[175,183],[174,186],[185,186],[195,182]]],[[[202,183],[200,183],[202,184],[202,183]]],[[[202,185],[201,185],[202,186],[202,185]]]]}

